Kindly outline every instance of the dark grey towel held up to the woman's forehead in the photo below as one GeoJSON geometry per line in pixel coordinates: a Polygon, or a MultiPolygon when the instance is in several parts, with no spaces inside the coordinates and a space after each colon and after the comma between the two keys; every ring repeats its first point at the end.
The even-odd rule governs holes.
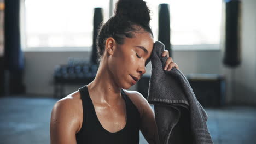
{"type": "Polygon", "coordinates": [[[207,114],[193,89],[176,68],[164,70],[164,44],[156,41],[151,55],[148,102],[154,104],[161,143],[213,143],[206,125],[207,114]],[[187,141],[185,141],[187,140],[187,141]]]}

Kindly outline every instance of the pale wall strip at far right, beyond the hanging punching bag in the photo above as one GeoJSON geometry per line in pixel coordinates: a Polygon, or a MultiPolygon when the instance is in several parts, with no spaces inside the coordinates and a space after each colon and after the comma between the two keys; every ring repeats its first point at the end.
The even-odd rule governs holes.
{"type": "Polygon", "coordinates": [[[234,101],[256,104],[256,1],[242,1],[242,64],[234,70],[234,101]]]}

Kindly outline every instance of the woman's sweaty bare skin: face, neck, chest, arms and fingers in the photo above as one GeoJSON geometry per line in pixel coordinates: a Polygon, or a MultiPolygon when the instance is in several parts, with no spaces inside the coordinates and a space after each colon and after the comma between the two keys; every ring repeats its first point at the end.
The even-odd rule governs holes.
{"type": "MultiPolygon", "coordinates": [[[[143,29],[133,32],[134,38],[125,38],[124,44],[117,44],[113,38],[106,40],[105,52],[102,56],[97,75],[89,83],[88,91],[96,115],[104,129],[115,133],[125,127],[126,107],[121,97],[121,88],[129,89],[134,85],[131,76],[140,79],[146,73],[145,63],[153,49],[152,35],[143,29]]],[[[167,56],[166,67],[178,68],[167,56]]],[[[159,143],[154,112],[148,101],[136,91],[124,91],[141,116],[141,131],[148,143],[159,143]]],[[[51,113],[51,143],[76,143],[75,134],[82,127],[83,107],[79,91],[67,95],[57,101],[51,113]]]]}

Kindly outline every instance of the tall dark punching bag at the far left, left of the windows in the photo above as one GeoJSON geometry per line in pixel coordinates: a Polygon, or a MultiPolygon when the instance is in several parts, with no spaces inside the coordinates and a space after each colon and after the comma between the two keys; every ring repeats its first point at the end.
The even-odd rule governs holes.
{"type": "Polygon", "coordinates": [[[9,71],[9,94],[25,93],[24,56],[20,40],[20,0],[5,1],[4,51],[5,68],[9,71]]]}

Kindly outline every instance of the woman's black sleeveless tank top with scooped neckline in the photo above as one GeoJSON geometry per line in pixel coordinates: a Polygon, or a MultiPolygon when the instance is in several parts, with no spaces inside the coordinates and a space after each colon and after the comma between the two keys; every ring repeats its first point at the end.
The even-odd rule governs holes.
{"type": "Polygon", "coordinates": [[[88,87],[85,85],[79,88],[79,92],[83,104],[83,123],[80,131],[75,134],[77,144],[139,143],[139,112],[123,89],[121,89],[121,95],[126,104],[126,125],[115,133],[111,133],[102,127],[89,96],[88,87]]]}

